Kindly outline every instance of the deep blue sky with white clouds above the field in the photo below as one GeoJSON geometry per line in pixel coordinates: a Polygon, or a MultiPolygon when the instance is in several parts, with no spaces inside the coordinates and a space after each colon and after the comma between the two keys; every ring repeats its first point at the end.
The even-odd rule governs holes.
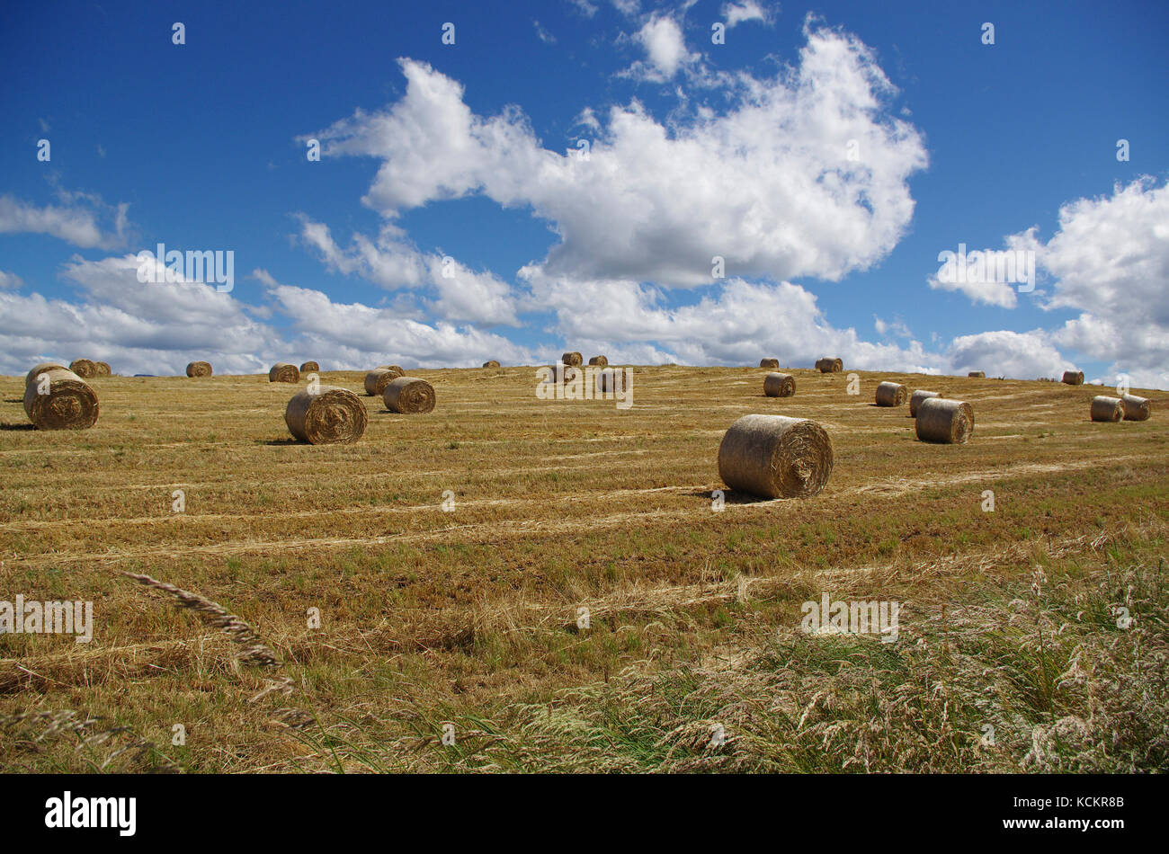
{"type": "Polygon", "coordinates": [[[1169,388],[1163,4],[0,15],[7,374],[579,349],[1169,388]],[[140,283],[159,242],[234,287],[140,283]],[[960,244],[1033,254],[1035,290],[939,282],[960,244]]]}

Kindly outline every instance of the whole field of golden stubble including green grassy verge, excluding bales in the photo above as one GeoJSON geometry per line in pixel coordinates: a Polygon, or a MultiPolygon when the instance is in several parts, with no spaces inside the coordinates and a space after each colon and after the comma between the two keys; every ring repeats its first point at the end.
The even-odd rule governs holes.
{"type": "Polygon", "coordinates": [[[0,769],[1169,763],[1169,393],[1100,424],[1093,387],[801,369],[774,401],[754,367],[632,372],[620,410],[538,400],[534,367],[411,370],[440,405],[410,417],[323,372],[366,407],[351,445],[290,437],[265,375],[103,377],[82,432],[32,429],[0,377],[0,599],[94,603],[88,644],[0,634],[0,769]],[[961,389],[977,431],[919,442],[880,380],[961,389]],[[719,480],[754,412],[828,431],[823,492],[719,480]],[[902,603],[900,639],[801,632],[824,592],[902,603]],[[113,735],[36,741],[70,713],[113,735]]]}

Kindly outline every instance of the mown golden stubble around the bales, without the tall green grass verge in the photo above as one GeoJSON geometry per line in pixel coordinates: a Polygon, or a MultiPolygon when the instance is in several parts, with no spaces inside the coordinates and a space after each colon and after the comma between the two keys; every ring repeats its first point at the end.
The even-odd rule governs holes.
{"type": "MultiPolygon", "coordinates": [[[[411,372],[435,411],[362,397],[362,439],[318,446],[289,437],[289,389],[263,375],[103,379],[84,433],[32,429],[23,377],[0,377],[0,599],[92,600],[95,619],[88,645],[0,636],[0,718],[115,720],[139,745],[108,765],[123,770],[540,769],[609,754],[671,768],[606,754],[563,716],[634,709],[652,699],[635,686],[663,674],[738,686],[746,665],[725,662],[755,660],[828,584],[912,600],[909,631],[942,604],[1026,589],[1037,563],[1163,554],[1169,426],[1092,423],[1091,387],[862,372],[850,396],[843,374],[794,370],[800,394],[768,398],[756,368],[634,372],[625,411],[538,400],[534,368],[411,372]],[[904,411],[874,407],[894,377],[968,401],[970,443],[920,443],[904,411]],[[727,493],[714,512],[719,442],[752,412],[823,425],[836,465],[819,495],[727,493]],[[279,703],[317,729],[291,728],[229,639],[124,572],[237,615],[296,686],[279,703]],[[601,706],[579,706],[593,693],[601,706]]],[[[359,391],[364,373],[320,379],[359,391]]],[[[1154,412],[1169,402],[1140,394],[1154,412]]],[[[891,720],[908,738],[913,722],[891,720]]],[[[0,769],[109,758],[5,735],[0,769]]]]}

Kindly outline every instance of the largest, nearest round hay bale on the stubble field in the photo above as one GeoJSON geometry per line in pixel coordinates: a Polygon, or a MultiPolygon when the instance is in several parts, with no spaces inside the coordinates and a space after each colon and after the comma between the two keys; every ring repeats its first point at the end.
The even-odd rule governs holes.
{"type": "Polygon", "coordinates": [[[762,498],[809,498],[832,473],[832,442],[807,418],[745,415],[719,444],[719,477],[762,498]]]}

